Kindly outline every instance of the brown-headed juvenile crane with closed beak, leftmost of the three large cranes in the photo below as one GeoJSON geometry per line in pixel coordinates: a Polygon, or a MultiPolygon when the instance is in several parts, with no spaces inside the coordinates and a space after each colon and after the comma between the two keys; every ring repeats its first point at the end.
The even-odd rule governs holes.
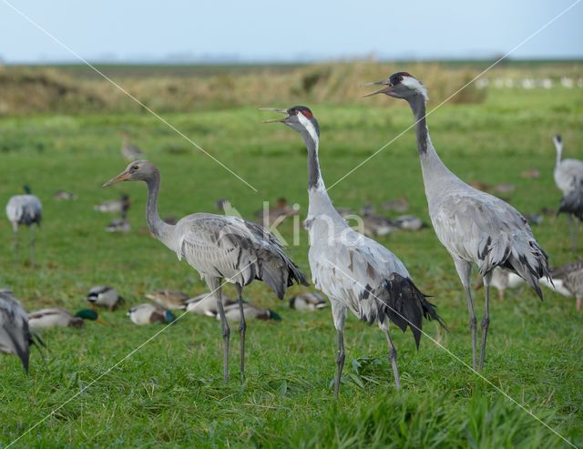
{"type": "MultiPolygon", "coordinates": [[[[179,260],[186,259],[199,271],[217,301],[223,337],[223,373],[229,377],[230,329],[221,297],[221,280],[235,284],[241,315],[243,314],[243,287],[254,280],[266,282],[282,299],[293,281],[307,284],[302,272],[283,252],[281,243],[268,230],[238,217],[196,213],[179,219],[176,225],[160,219],[158,195],[160,172],[148,160],[137,160],[128,165],[104,187],[120,181],[141,180],[148,186],[146,219],[150,232],[179,260]]],[[[240,320],[240,375],[244,377],[245,332],[244,316],[240,320]]]]}

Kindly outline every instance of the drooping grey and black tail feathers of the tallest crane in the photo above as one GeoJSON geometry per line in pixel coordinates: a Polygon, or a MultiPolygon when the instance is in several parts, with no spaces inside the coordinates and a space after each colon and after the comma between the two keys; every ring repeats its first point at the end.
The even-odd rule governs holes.
{"type": "Polygon", "coordinates": [[[552,283],[547,253],[533,237],[525,239],[518,235],[514,236],[514,240],[509,240],[506,234],[500,234],[493,240],[488,236],[478,246],[478,260],[482,277],[496,267],[511,270],[527,282],[540,301],[543,300],[543,292],[538,280],[546,277],[552,283]]]}

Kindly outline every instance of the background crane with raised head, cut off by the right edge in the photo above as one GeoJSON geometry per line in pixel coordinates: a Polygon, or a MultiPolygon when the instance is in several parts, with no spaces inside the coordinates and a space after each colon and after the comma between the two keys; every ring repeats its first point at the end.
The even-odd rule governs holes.
{"type": "Polygon", "coordinates": [[[558,134],[553,137],[553,142],[557,150],[553,176],[557,188],[563,192],[557,214],[568,213],[571,246],[575,251],[577,250],[578,220],[583,220],[583,161],[562,158],[563,139],[558,134]]]}

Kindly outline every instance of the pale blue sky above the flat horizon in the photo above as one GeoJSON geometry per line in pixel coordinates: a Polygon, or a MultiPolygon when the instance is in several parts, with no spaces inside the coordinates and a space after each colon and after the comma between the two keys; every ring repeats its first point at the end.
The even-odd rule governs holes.
{"type": "MultiPolygon", "coordinates": [[[[575,1],[0,0],[0,61],[76,61],[66,46],[92,62],[484,58],[512,50],[575,1]]],[[[578,1],[511,57],[583,57],[578,1]]]]}

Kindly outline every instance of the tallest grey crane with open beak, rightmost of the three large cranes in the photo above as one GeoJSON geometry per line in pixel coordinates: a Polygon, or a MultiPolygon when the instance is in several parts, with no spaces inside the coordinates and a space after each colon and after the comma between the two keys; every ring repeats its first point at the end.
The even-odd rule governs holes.
{"type": "Polygon", "coordinates": [[[512,206],[486,192],[474,189],[457,178],[437,155],[429,137],[425,119],[427,91],[423,84],[406,72],[398,72],[377,81],[382,88],[370,93],[403,98],[409,103],[414,119],[417,149],[421,159],[425,196],[435,234],[454,260],[455,270],[464,286],[472,332],[472,362],[476,370],[476,313],[470,289],[472,264],[476,263],[484,279],[486,307],[482,321],[480,369],[486,356],[486,338],[490,323],[490,282],[492,270],[503,267],[514,271],[537,292],[538,280],[550,279],[548,258],[533,237],[527,220],[512,206]]]}

